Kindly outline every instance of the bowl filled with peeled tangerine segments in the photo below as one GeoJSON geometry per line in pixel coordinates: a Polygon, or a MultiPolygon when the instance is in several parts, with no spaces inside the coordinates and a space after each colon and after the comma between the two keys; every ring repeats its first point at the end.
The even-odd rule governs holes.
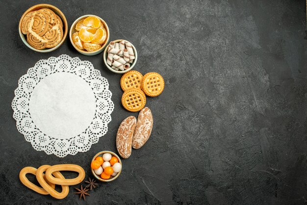
{"type": "Polygon", "coordinates": [[[102,18],[95,15],[79,17],[71,26],[70,41],[84,55],[96,55],[109,41],[109,28],[102,18]]]}

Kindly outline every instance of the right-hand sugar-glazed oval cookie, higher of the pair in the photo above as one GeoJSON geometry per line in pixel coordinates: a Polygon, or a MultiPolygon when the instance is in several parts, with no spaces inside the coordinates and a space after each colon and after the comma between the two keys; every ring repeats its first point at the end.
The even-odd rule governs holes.
{"type": "Polygon", "coordinates": [[[137,118],[132,138],[132,147],[140,149],[149,139],[153,129],[153,115],[148,107],[142,109],[137,118]]]}

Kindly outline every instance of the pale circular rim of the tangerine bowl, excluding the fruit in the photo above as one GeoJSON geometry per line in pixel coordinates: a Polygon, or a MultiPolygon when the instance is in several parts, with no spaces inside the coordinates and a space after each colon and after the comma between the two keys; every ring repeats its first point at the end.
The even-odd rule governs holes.
{"type": "Polygon", "coordinates": [[[84,53],[84,54],[92,54],[92,53],[96,53],[96,54],[99,54],[100,52],[103,51],[103,49],[108,45],[108,42],[109,42],[109,39],[110,39],[110,31],[109,31],[109,26],[105,23],[105,21],[100,18],[99,16],[96,16],[94,14],[86,14],[86,15],[83,15],[83,16],[80,16],[79,18],[76,19],[76,21],[74,21],[74,23],[72,24],[72,26],[70,27],[70,30],[69,30],[69,39],[70,39],[70,42],[71,44],[73,45],[73,47],[80,53],[84,53]],[[102,46],[100,49],[96,50],[96,51],[83,51],[83,50],[80,50],[80,49],[77,49],[77,47],[75,46],[74,42],[73,42],[73,39],[72,39],[72,32],[73,32],[73,29],[74,29],[74,26],[83,18],[86,18],[86,17],[89,17],[89,16],[95,16],[97,18],[99,18],[104,26],[106,27],[106,30],[108,32],[108,38],[105,40],[105,44],[104,46],[102,46]]]}

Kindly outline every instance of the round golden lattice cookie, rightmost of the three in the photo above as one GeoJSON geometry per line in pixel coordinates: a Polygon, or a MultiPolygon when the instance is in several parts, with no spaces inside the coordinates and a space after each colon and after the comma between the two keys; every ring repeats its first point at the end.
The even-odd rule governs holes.
{"type": "Polygon", "coordinates": [[[142,79],[142,90],[147,96],[155,97],[164,89],[163,77],[158,73],[147,73],[142,79]]]}

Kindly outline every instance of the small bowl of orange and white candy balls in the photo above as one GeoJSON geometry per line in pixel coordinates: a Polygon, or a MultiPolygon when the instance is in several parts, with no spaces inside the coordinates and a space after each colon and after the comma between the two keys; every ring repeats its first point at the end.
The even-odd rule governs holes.
{"type": "Polygon", "coordinates": [[[101,181],[113,181],[122,172],[122,161],[110,151],[97,153],[91,162],[91,170],[95,178],[101,181]]]}

